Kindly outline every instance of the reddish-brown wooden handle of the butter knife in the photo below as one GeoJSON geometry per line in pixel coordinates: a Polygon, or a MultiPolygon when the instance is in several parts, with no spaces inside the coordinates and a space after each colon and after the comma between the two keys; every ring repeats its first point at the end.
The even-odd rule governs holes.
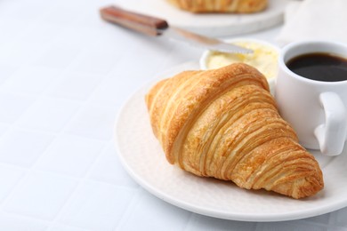
{"type": "Polygon", "coordinates": [[[101,18],[124,28],[130,28],[149,36],[159,36],[158,29],[168,28],[165,20],[137,12],[125,11],[117,6],[101,8],[101,18]]]}

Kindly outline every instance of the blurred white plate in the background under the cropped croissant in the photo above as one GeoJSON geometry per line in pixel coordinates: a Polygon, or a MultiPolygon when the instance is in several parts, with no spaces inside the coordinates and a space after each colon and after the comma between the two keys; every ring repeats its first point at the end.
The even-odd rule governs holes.
{"type": "Polygon", "coordinates": [[[290,0],[269,0],[269,7],[265,11],[251,14],[195,14],[177,9],[167,0],[128,0],[121,6],[165,19],[171,25],[187,28],[199,34],[234,36],[281,24],[286,4],[289,2],[290,0]]]}

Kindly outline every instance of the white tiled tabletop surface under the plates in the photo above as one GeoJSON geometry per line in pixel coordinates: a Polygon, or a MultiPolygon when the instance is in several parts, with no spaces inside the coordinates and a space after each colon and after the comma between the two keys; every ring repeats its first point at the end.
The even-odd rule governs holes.
{"type": "MultiPolygon", "coordinates": [[[[214,219],[129,177],[114,147],[117,112],[202,51],[100,19],[100,7],[122,1],[0,1],[0,230],[346,230],[347,209],[282,222],[214,219]]],[[[279,30],[244,36],[273,42],[279,30]]]]}

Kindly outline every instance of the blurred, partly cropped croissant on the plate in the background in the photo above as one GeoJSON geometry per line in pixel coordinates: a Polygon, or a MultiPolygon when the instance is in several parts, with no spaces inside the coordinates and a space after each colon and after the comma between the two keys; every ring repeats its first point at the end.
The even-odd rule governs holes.
{"type": "Polygon", "coordinates": [[[260,12],[268,0],[168,0],[188,12],[260,12]]]}

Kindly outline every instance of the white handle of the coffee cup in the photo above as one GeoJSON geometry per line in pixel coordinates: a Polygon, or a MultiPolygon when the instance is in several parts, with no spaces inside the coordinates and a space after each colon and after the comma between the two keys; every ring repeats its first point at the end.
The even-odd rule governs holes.
{"type": "Polygon", "coordinates": [[[321,93],[319,101],[326,115],[326,122],[314,131],[320,151],[324,155],[340,155],[346,138],[347,110],[335,92],[321,93]]]}

